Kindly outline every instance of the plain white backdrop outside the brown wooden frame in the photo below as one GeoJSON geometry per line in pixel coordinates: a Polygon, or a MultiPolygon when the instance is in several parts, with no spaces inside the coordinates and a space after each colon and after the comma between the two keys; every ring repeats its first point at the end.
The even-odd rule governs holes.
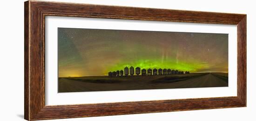
{"type": "MultiPolygon", "coordinates": [[[[52,0],[51,0],[52,1],[52,0]]],[[[80,3],[138,6],[247,14],[247,107],[138,115],[116,115],[57,121],[255,121],[256,112],[256,13],[253,0],[55,0],[80,3]]],[[[24,113],[24,3],[5,0],[0,4],[0,119],[22,121],[24,113]]]]}

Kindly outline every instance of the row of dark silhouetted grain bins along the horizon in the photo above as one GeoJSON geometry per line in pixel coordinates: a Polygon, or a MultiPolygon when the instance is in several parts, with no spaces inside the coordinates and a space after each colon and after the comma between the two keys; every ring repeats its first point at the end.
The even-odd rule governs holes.
{"type": "MultiPolygon", "coordinates": [[[[136,67],[135,70],[134,70],[134,67],[125,67],[124,68],[124,71],[123,70],[117,70],[117,71],[114,71],[114,72],[109,72],[108,73],[108,76],[109,77],[115,77],[115,76],[127,76],[127,75],[142,75],[142,76],[149,76],[149,75],[168,75],[168,74],[184,74],[183,71],[178,71],[178,70],[171,70],[171,69],[142,69],[140,67],[136,67]]],[[[185,72],[185,74],[189,74],[189,72],[185,72]]]]}

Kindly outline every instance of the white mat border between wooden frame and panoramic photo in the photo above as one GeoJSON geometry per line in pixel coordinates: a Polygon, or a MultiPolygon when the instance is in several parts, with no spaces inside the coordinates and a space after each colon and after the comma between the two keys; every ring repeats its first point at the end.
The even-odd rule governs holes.
{"type": "Polygon", "coordinates": [[[47,16],[45,27],[46,105],[113,103],[146,100],[237,96],[236,25],[47,16]],[[229,87],[57,93],[58,27],[229,34],[229,87]]]}

